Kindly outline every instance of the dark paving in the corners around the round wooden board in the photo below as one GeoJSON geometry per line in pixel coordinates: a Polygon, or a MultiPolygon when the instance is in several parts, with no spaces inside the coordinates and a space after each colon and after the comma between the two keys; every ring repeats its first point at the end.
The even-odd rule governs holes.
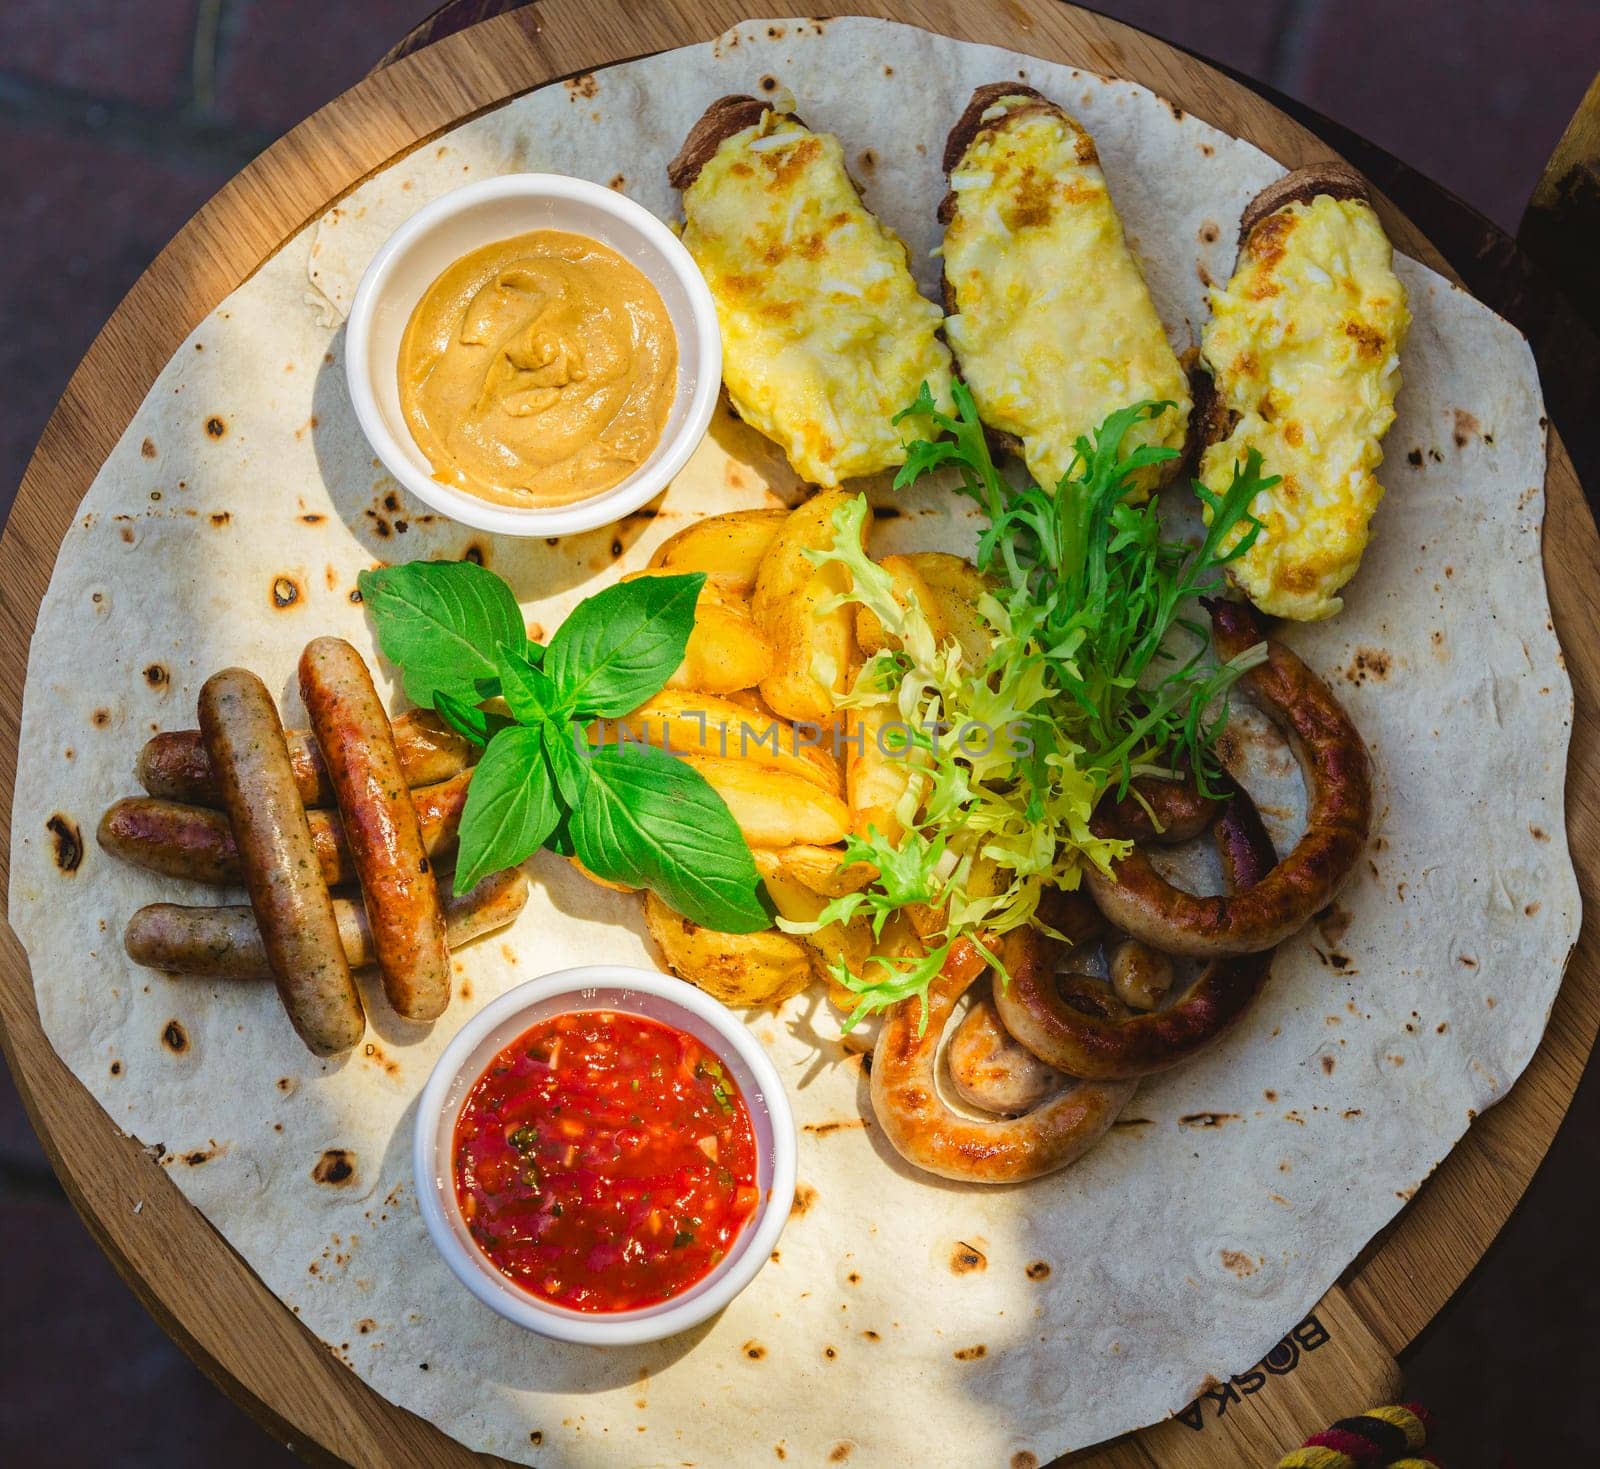
{"type": "MultiPolygon", "coordinates": [[[[434,3],[0,6],[0,512],[69,373],[157,250],[434,3]]],[[[750,8],[760,11],[760,0],[750,8]]],[[[1098,8],[1309,102],[1507,229],[1600,67],[1600,0],[1098,8]]],[[[1437,1450],[1453,1469],[1600,1461],[1579,1400],[1600,1384],[1592,1075],[1573,1111],[1486,1264],[1408,1354],[1410,1392],[1435,1411],[1437,1450]]],[[[290,1463],[115,1277],[3,1074],[0,1261],[0,1459],[59,1469],[290,1463]]]]}

